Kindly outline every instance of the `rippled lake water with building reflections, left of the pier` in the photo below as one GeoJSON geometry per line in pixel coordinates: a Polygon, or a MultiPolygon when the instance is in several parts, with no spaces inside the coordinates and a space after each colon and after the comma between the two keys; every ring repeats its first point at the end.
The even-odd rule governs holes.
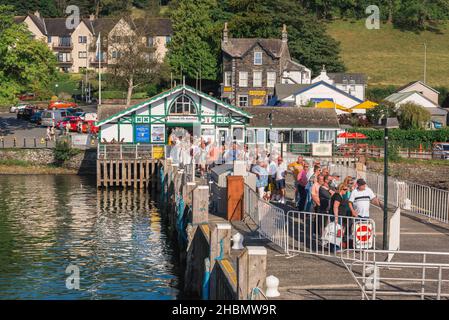
{"type": "Polygon", "coordinates": [[[164,223],[148,193],[0,175],[0,299],[176,299],[164,223]]]}

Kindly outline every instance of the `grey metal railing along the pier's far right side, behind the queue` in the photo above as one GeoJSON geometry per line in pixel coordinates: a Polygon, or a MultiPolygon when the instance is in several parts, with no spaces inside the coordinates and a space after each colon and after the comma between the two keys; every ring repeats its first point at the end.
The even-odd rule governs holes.
{"type": "MultiPolygon", "coordinates": [[[[332,165],[332,172],[341,177],[359,177],[355,168],[332,165]]],[[[384,176],[373,172],[363,172],[366,182],[380,200],[384,199],[384,176]]],[[[388,204],[412,213],[424,215],[444,223],[449,223],[449,191],[418,183],[388,178],[388,204]]]]}

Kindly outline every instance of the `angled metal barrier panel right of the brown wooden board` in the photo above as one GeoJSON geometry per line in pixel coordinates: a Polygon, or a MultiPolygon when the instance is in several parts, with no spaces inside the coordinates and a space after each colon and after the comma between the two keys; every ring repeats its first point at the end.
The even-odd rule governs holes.
{"type": "Polygon", "coordinates": [[[245,184],[244,212],[258,226],[259,235],[287,251],[287,229],[284,210],[259,198],[258,194],[245,184]]]}

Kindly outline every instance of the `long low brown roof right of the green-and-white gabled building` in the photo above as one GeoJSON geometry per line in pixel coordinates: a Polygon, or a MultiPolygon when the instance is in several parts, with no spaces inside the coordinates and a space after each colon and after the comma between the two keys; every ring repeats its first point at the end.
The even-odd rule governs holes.
{"type": "Polygon", "coordinates": [[[334,109],[300,107],[246,107],[251,113],[250,127],[269,128],[272,113],[273,128],[339,128],[334,109]]]}

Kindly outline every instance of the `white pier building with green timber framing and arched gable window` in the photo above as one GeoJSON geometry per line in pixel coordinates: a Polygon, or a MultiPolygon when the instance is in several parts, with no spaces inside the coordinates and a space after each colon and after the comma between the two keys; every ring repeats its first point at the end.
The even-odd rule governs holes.
{"type": "Polygon", "coordinates": [[[97,125],[101,143],[164,145],[175,128],[213,141],[235,137],[243,142],[251,118],[246,111],[180,85],[124,110],[104,109],[97,125]]]}

